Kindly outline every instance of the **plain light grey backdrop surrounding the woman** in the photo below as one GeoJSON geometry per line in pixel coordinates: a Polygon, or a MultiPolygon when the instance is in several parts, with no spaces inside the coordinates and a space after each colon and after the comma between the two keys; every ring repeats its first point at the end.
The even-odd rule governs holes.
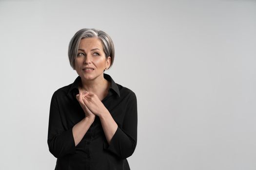
{"type": "Polygon", "coordinates": [[[0,0],[0,169],[54,169],[49,105],[81,28],[111,35],[106,73],[137,94],[132,170],[256,169],[256,0],[0,0]]]}

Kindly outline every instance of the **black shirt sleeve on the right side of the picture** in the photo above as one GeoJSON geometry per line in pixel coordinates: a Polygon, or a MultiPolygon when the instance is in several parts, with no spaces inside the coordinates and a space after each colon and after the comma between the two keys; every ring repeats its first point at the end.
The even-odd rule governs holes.
{"type": "Polygon", "coordinates": [[[125,112],[123,125],[122,127],[118,127],[110,144],[105,144],[104,148],[115,153],[121,159],[131,156],[137,145],[137,124],[137,98],[135,93],[132,92],[125,112]]]}

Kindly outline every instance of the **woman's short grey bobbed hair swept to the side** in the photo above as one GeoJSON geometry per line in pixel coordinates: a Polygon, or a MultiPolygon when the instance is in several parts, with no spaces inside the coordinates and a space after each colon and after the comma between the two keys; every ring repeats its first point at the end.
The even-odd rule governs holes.
{"type": "Polygon", "coordinates": [[[114,48],[114,43],[113,43],[111,37],[103,31],[96,30],[96,29],[84,28],[84,29],[79,30],[72,37],[72,39],[69,42],[68,58],[69,58],[70,66],[73,69],[75,69],[75,62],[76,62],[76,58],[78,55],[80,40],[84,39],[84,38],[93,38],[93,37],[96,37],[101,41],[105,56],[111,57],[110,67],[113,65],[114,57],[115,57],[115,48],[114,48]]]}

